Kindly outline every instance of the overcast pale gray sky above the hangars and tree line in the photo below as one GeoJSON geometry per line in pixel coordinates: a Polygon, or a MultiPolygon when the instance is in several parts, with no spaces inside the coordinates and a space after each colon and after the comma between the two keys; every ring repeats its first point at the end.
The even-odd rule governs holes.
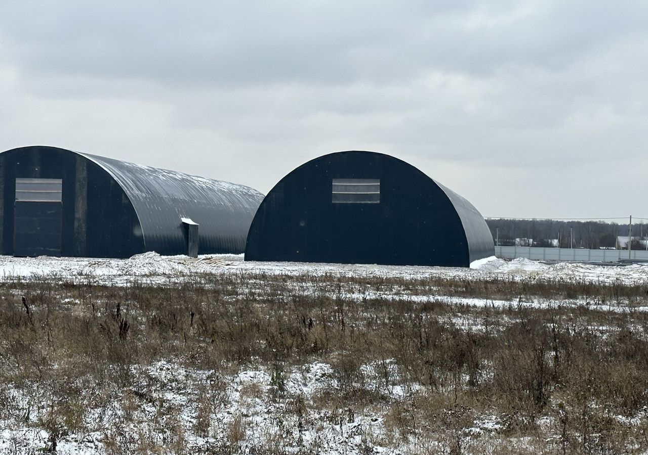
{"type": "Polygon", "coordinates": [[[484,216],[648,217],[647,5],[0,0],[0,149],[264,194],[373,150],[484,216]]]}

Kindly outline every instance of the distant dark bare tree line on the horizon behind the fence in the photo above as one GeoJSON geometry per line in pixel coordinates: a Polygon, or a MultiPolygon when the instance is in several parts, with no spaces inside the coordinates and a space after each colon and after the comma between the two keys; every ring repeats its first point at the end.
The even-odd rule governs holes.
{"type": "MultiPolygon", "coordinates": [[[[616,248],[618,236],[628,236],[628,223],[605,221],[562,221],[555,219],[486,220],[493,241],[502,246],[616,248]]],[[[632,249],[645,249],[640,239],[648,239],[648,224],[632,223],[632,249]]]]}

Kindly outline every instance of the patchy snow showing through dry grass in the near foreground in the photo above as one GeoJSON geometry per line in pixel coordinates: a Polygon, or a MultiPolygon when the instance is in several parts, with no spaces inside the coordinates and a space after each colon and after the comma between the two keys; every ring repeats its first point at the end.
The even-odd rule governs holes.
{"type": "MultiPolygon", "coordinates": [[[[385,386],[375,366],[363,367],[373,376],[376,395],[384,401],[402,400],[401,386],[385,386]]],[[[329,364],[313,362],[281,372],[267,368],[242,368],[233,375],[189,370],[160,361],[133,368],[139,384],[115,397],[108,406],[85,410],[89,430],[82,434],[61,434],[59,454],[103,454],[119,445],[122,453],[137,450],[143,433],[146,439],[167,446],[170,453],[205,453],[207,448],[235,446],[240,453],[253,447],[275,446],[283,453],[362,454],[393,453],[394,435],[384,425],[380,405],[369,406],[364,414],[351,409],[312,408],[312,397],[337,390],[340,384],[329,364]],[[223,385],[224,384],[224,385],[223,385]],[[206,398],[206,388],[219,388],[206,398]],[[148,404],[133,405],[138,388],[146,390],[148,404]],[[215,398],[214,398],[215,397],[215,398]],[[297,407],[295,412],[294,407],[297,407]],[[173,420],[171,425],[169,421],[173,420]]],[[[27,416],[16,423],[0,417],[0,453],[37,453],[51,447],[51,432],[43,430],[48,418],[45,403],[50,397],[12,391],[8,394],[14,412],[27,416]]],[[[481,417],[472,432],[498,426],[496,417],[481,417]]],[[[400,443],[399,453],[415,452],[416,439],[400,443]],[[411,447],[410,447],[411,446],[411,447]]]]}

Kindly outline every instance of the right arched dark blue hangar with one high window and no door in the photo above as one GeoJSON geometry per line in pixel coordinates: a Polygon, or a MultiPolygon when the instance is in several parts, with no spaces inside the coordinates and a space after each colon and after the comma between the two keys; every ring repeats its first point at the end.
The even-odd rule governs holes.
{"type": "Polygon", "coordinates": [[[469,267],[493,254],[491,232],[466,199],[389,155],[341,151],[272,188],[245,258],[469,267]]]}

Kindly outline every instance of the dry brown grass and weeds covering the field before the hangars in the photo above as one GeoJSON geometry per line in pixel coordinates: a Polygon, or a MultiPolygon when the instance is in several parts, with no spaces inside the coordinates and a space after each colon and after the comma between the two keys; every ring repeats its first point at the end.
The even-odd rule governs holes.
{"type": "MultiPolygon", "coordinates": [[[[185,453],[182,410],[156,399],[160,384],[137,373],[167,360],[210,372],[195,391],[193,428],[220,438],[213,453],[308,453],[317,447],[304,443],[304,428],[317,428],[318,418],[342,428],[365,413],[382,416],[384,426],[362,436],[366,450],[408,443],[416,453],[640,453],[648,449],[648,316],[632,308],[647,296],[646,285],[504,278],[223,274],[159,287],[17,280],[0,285],[0,413],[47,430],[44,449],[53,450],[65,435],[92,429],[89,409],[119,401],[115,418],[127,428],[143,406],[155,406],[154,432],[106,432],[106,452],[185,453]],[[431,297],[349,296],[358,291],[431,297]],[[511,305],[469,307],[446,296],[511,305]],[[524,305],[533,300],[552,305],[524,305]],[[600,304],[631,311],[601,311],[600,304]],[[286,372],[314,361],[330,364],[336,386],[286,394],[286,372]],[[263,445],[246,445],[240,414],[222,427],[213,421],[214,409],[229,402],[227,378],[252,365],[270,373],[270,399],[289,416],[282,425],[297,425],[263,445]],[[24,409],[12,405],[8,390],[32,397],[42,408],[30,411],[38,420],[18,415],[24,409]],[[498,427],[471,430],[483,416],[494,416],[498,427]],[[635,420],[627,425],[618,416],[635,420]]],[[[256,384],[240,394],[264,397],[256,384]]]]}

